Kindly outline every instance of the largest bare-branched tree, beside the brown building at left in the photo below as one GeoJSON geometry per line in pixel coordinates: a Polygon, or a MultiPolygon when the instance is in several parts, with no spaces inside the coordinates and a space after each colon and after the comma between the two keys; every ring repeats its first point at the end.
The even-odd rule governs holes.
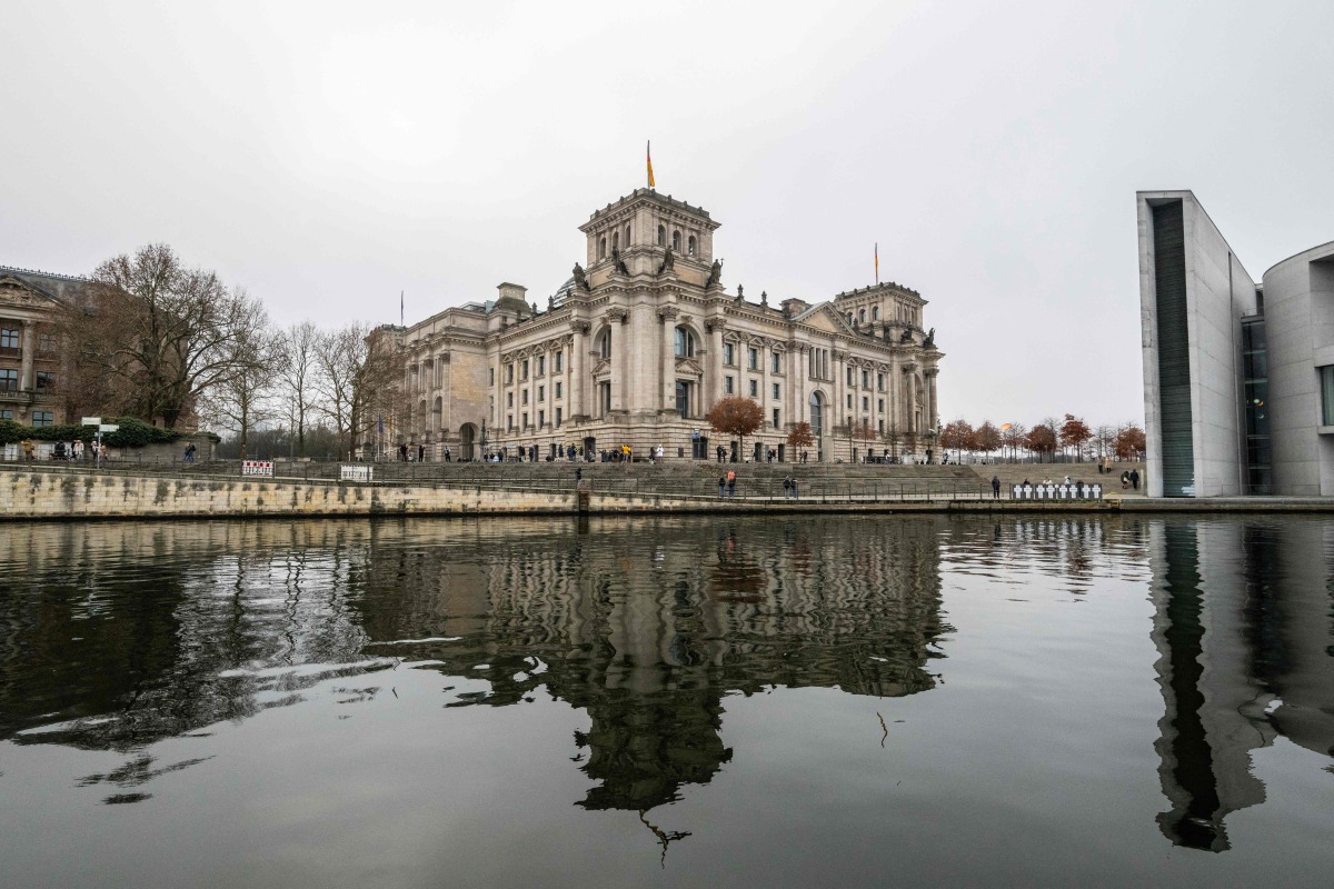
{"type": "Polygon", "coordinates": [[[255,333],[255,307],[215,272],[188,268],[167,244],[149,244],[99,265],[63,327],[76,373],[107,381],[104,409],[175,428],[203,395],[239,372],[235,356],[255,333]]]}

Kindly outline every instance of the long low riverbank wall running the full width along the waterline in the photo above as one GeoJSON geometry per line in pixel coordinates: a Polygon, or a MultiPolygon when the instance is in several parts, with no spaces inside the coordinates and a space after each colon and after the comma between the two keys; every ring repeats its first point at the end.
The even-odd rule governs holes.
{"type": "Polygon", "coordinates": [[[370,516],[514,516],[747,512],[1334,512],[1334,498],[1235,497],[1150,500],[1110,494],[1094,501],[1018,501],[958,493],[848,493],[702,497],[600,488],[587,480],[460,485],[340,482],[207,474],[139,474],[81,469],[0,470],[0,520],[300,518],[370,516]]]}

